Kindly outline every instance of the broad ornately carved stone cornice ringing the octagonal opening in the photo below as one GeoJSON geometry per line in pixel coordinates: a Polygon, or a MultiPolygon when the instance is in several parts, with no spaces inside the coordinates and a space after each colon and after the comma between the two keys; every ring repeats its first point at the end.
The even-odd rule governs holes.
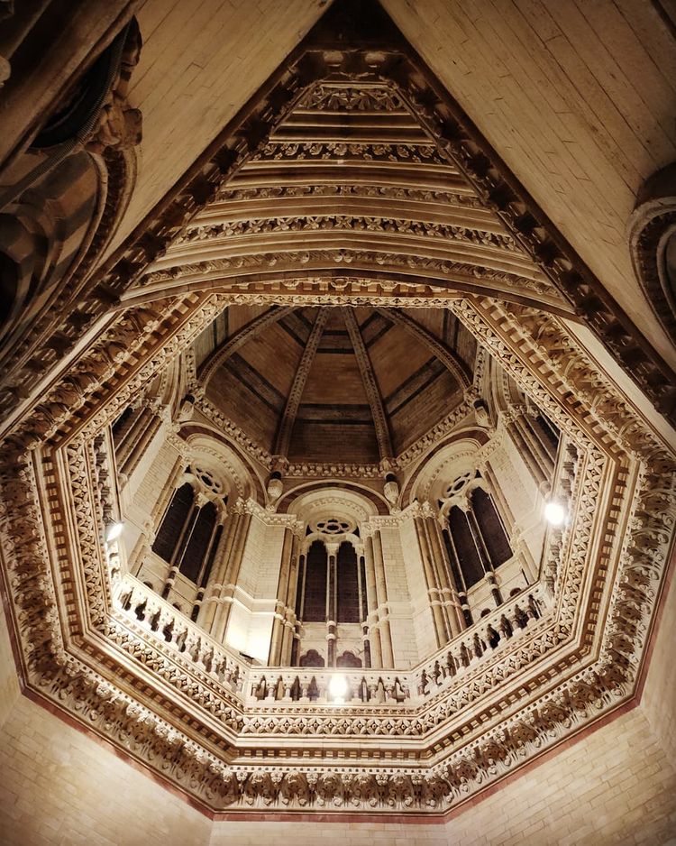
{"type": "MultiPolygon", "coordinates": [[[[556,317],[491,299],[452,308],[579,450],[574,520],[551,550],[552,612],[532,630],[444,677],[414,707],[289,708],[247,704],[230,682],[224,688],[206,640],[192,635],[177,653],[152,630],[154,617],[142,626],[115,610],[116,576],[105,566],[102,537],[114,485],[101,430],[224,301],[178,301],[161,324],[142,312],[120,317],[5,442],[0,529],[27,685],[215,810],[442,813],[631,697],[674,531],[673,455],[556,317]],[[619,510],[627,530],[616,539],[619,510]],[[55,546],[54,538],[63,539],[55,546]],[[603,541],[600,553],[592,554],[591,538],[603,541]],[[58,550],[56,560],[50,549],[58,550]],[[589,598],[608,580],[607,608],[592,609],[589,598]],[[585,645],[591,631],[595,652],[585,645]],[[124,692],[114,682],[121,666],[124,692]],[[503,701],[507,679],[522,681],[527,704],[514,701],[512,687],[503,701]],[[152,685],[152,707],[133,701],[135,685],[152,685]],[[177,697],[189,731],[172,708],[177,697]],[[288,762],[271,749],[261,769],[248,756],[268,749],[270,736],[290,739],[288,762]],[[387,737],[403,751],[396,764],[382,757],[387,737]],[[340,758],[351,744],[360,750],[358,766],[340,758]]],[[[251,509],[293,529],[286,515],[251,509]]],[[[381,527],[400,519],[374,520],[381,527]]]]}

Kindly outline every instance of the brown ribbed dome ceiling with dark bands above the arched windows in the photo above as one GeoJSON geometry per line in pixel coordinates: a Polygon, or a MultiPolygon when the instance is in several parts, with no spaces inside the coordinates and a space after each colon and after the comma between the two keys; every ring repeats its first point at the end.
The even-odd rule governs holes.
{"type": "Polygon", "coordinates": [[[196,341],[206,399],[272,455],[377,464],[455,408],[476,343],[446,309],[228,308],[196,341]]]}

